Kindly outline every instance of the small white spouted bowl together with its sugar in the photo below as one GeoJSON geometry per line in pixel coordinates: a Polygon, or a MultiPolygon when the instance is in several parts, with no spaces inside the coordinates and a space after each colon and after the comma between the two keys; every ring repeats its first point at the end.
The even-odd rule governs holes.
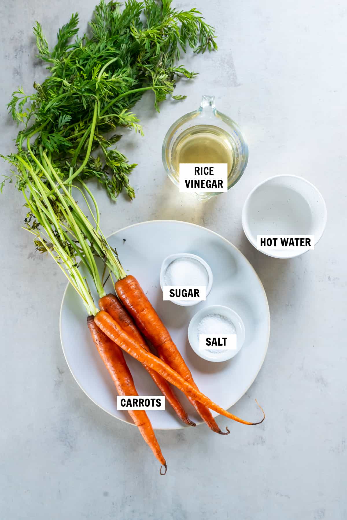
{"type": "MultiPolygon", "coordinates": [[[[160,287],[206,287],[206,297],[212,289],[213,275],[211,268],[200,256],[191,253],[176,253],[166,256],[160,269],[160,287]]],[[[200,301],[171,300],[176,305],[189,307],[200,301]]]]}

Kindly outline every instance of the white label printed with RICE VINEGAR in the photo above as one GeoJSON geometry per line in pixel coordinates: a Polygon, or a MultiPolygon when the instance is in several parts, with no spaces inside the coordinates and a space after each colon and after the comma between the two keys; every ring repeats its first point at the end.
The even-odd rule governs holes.
{"type": "Polygon", "coordinates": [[[179,163],[179,191],[188,193],[228,191],[227,163],[179,163]]]}

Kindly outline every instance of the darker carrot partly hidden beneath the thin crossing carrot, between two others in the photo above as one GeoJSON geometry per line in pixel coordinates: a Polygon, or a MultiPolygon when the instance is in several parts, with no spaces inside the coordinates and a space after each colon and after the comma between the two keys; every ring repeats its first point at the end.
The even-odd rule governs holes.
{"type": "MultiPolygon", "coordinates": [[[[114,319],[114,321],[117,321],[122,329],[130,337],[132,337],[138,345],[149,352],[149,348],[143,335],[137,329],[133,319],[124,309],[117,296],[114,294],[107,294],[106,296],[102,296],[102,298],[99,300],[99,307],[101,310],[105,310],[114,319]]],[[[189,426],[196,426],[196,424],[188,418],[187,412],[184,410],[183,406],[175,396],[169,383],[155,370],[151,370],[146,365],[144,365],[144,367],[151,376],[152,380],[158,386],[161,393],[165,396],[165,399],[168,400],[178,417],[182,419],[185,424],[188,424],[189,426]]]]}

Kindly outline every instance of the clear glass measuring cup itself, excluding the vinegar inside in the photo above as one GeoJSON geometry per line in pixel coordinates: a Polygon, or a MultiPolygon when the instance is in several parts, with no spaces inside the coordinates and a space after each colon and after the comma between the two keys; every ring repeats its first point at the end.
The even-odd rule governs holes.
{"type": "MultiPolygon", "coordinates": [[[[197,137],[199,133],[205,136],[210,135],[215,140],[216,147],[223,148],[224,146],[226,148],[230,159],[222,162],[228,163],[228,189],[231,188],[245,171],[248,161],[248,146],[235,121],[215,108],[214,96],[202,96],[201,105],[197,110],[183,115],[170,126],[162,146],[162,160],[166,173],[172,182],[179,187],[179,164],[175,153],[177,145],[182,142],[182,139],[197,137]]],[[[194,160],[182,162],[217,162],[213,160],[214,151],[212,146],[211,160],[209,161],[199,161],[197,151],[194,160]]],[[[195,193],[195,196],[199,200],[207,200],[218,194],[204,192],[195,193]]]]}

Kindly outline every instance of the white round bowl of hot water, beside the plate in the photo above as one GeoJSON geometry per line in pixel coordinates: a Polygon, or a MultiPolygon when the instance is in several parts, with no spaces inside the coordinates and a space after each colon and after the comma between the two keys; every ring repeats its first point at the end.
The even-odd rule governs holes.
{"type": "MultiPolygon", "coordinates": [[[[314,235],[316,244],[327,222],[327,208],[313,184],[296,175],[277,175],[249,193],[242,209],[242,227],[256,248],[257,235],[314,235]]],[[[274,258],[292,258],[307,250],[269,250],[274,258]]]]}

